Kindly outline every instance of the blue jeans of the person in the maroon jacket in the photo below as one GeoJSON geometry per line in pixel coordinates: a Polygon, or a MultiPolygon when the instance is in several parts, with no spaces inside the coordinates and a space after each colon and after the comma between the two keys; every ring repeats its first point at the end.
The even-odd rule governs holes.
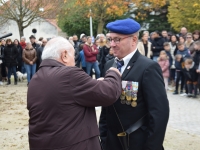
{"type": "Polygon", "coordinates": [[[100,70],[97,62],[86,62],[86,72],[90,75],[92,68],[95,70],[96,79],[100,78],[100,70]]]}

